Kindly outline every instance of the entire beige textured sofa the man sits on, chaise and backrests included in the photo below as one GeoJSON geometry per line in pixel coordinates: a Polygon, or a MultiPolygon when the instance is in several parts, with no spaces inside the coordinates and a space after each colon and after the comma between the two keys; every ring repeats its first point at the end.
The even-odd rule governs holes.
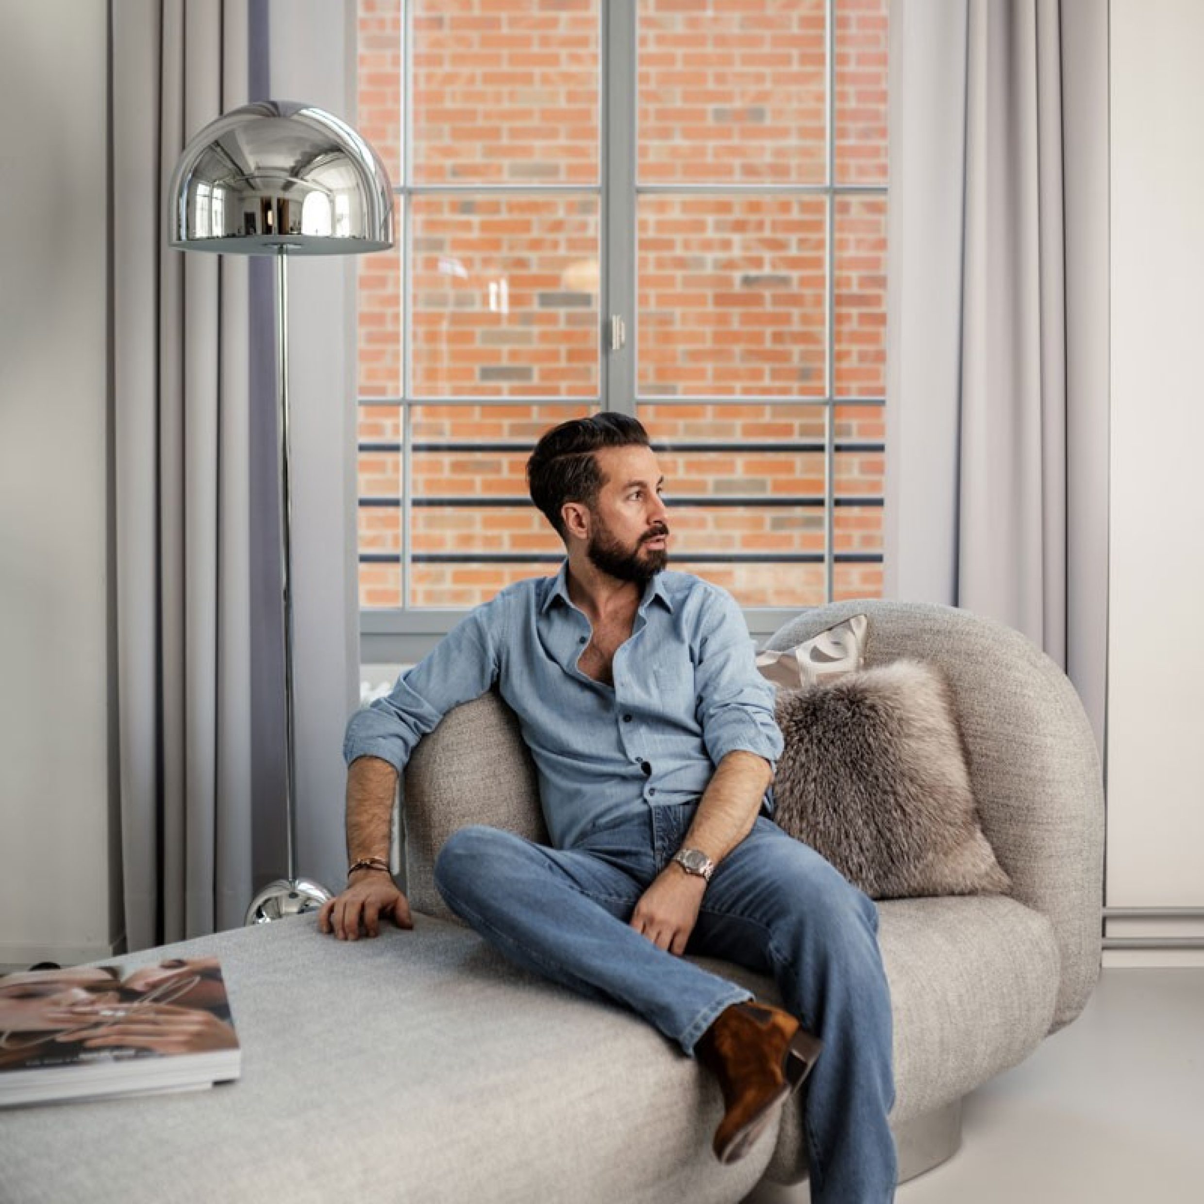
{"type": "MultiPolygon", "coordinates": [[[[956,1149],[967,1092],[1084,1007],[1099,969],[1103,795],[1074,690],[998,624],[845,603],[799,616],[771,647],[858,610],[870,663],[907,655],[946,669],[984,830],[1014,884],[1011,897],[881,904],[908,1178],[956,1149]]],[[[773,1184],[805,1176],[805,1093],[775,1139],[720,1167],[710,1137],[722,1105],[691,1060],[637,1017],[512,968],[447,919],[431,867],[452,831],[541,833],[532,768],[496,695],[423,740],[405,810],[414,932],[340,943],[306,915],[128,958],[223,958],[241,1081],[11,1111],[0,1202],[720,1204],[778,1199],[773,1184]]],[[[771,982],[725,972],[775,997],[771,982]]]]}

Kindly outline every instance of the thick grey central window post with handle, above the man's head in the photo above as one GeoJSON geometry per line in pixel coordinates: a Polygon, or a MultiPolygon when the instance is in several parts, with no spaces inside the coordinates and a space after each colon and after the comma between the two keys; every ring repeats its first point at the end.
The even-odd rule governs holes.
{"type": "Polygon", "coordinates": [[[602,5],[602,400],[636,412],[636,0],[602,5]],[[610,319],[625,342],[610,346],[610,319]]]}

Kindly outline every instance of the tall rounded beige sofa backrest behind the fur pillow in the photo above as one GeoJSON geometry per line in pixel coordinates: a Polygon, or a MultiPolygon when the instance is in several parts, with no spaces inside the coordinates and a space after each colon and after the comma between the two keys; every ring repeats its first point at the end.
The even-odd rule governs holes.
{"type": "Polygon", "coordinates": [[[1013,896],[1054,926],[1060,1028],[1094,988],[1102,948],[1103,778],[1082,703],[1027,637],[954,607],[833,603],[799,615],[766,647],[790,648],[858,613],[869,616],[867,663],[911,656],[949,677],[982,831],[1011,878],[1013,896]]]}

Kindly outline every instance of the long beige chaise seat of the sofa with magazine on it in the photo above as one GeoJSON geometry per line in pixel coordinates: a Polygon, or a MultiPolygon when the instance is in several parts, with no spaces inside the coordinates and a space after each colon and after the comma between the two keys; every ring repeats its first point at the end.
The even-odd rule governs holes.
{"type": "Polygon", "coordinates": [[[653,1027],[414,917],[376,940],[302,915],[124,960],[222,958],[242,1078],[211,1091],[18,1108],[0,1199],[734,1204],[772,1138],[719,1167],[714,1082],[653,1027]]]}

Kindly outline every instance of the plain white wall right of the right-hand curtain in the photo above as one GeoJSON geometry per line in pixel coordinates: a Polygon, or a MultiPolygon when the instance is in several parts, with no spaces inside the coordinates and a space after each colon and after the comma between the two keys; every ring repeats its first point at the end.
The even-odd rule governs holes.
{"type": "Polygon", "coordinates": [[[1110,907],[1204,907],[1202,48],[1199,0],[1112,0],[1110,907]]]}

